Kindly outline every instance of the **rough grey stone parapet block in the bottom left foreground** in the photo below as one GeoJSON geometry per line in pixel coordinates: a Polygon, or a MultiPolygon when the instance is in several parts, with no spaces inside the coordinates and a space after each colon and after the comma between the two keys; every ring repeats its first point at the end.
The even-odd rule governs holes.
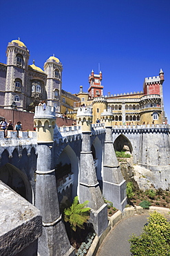
{"type": "Polygon", "coordinates": [[[0,255],[36,255],[42,232],[40,211],[2,181],[0,190],[0,255]]]}

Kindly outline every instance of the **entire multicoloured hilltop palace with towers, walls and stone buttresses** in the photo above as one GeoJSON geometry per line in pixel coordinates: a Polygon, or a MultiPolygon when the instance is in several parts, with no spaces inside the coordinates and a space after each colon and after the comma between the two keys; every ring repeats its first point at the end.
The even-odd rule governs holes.
{"type": "MultiPolygon", "coordinates": [[[[23,129],[0,130],[0,255],[77,255],[61,203],[88,201],[96,236],[108,228],[107,201],[121,212],[126,183],[170,189],[169,125],[162,69],[142,91],[103,95],[103,74],[92,71],[87,92],[63,90],[63,64],[28,64],[23,42],[8,43],[0,63],[0,116],[23,129]],[[39,104],[45,102],[45,105],[39,104]],[[123,167],[116,151],[130,154],[123,167]]],[[[140,89],[140,90],[141,90],[140,89]]]]}

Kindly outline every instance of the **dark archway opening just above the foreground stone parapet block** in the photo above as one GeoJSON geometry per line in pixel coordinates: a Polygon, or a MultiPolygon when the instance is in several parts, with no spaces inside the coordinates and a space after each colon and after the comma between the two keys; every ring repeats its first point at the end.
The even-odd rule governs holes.
{"type": "Polygon", "coordinates": [[[10,163],[1,166],[0,180],[32,203],[32,188],[28,177],[17,167],[10,163]]]}

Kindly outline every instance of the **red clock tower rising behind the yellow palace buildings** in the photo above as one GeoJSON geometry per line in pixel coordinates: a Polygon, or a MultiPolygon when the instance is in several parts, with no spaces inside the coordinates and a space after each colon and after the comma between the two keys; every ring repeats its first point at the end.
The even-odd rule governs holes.
{"type": "Polygon", "coordinates": [[[96,97],[103,96],[103,86],[101,85],[102,72],[99,75],[94,74],[92,70],[91,75],[89,75],[89,98],[93,99],[96,97]]]}

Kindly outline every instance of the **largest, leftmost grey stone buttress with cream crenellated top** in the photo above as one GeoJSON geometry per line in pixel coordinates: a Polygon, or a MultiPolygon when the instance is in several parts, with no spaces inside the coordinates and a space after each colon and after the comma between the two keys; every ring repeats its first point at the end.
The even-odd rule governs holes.
{"type": "Polygon", "coordinates": [[[34,125],[37,139],[36,208],[43,216],[43,234],[39,238],[38,251],[41,256],[75,255],[74,248],[65,231],[59,210],[56,176],[53,165],[53,135],[55,109],[47,106],[36,107],[34,125]]]}

